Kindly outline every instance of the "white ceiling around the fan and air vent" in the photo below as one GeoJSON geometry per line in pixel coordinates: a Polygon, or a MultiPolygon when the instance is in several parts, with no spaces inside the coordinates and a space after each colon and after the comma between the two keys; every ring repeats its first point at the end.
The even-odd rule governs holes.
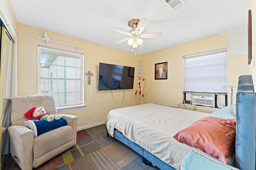
{"type": "Polygon", "coordinates": [[[163,36],[144,38],[138,55],[247,26],[249,0],[185,2],[173,10],[165,0],[10,0],[17,22],[130,53],[134,51],[126,42],[115,44],[129,36],[109,28],[129,32],[128,21],[147,18],[142,34],[163,36]]]}

